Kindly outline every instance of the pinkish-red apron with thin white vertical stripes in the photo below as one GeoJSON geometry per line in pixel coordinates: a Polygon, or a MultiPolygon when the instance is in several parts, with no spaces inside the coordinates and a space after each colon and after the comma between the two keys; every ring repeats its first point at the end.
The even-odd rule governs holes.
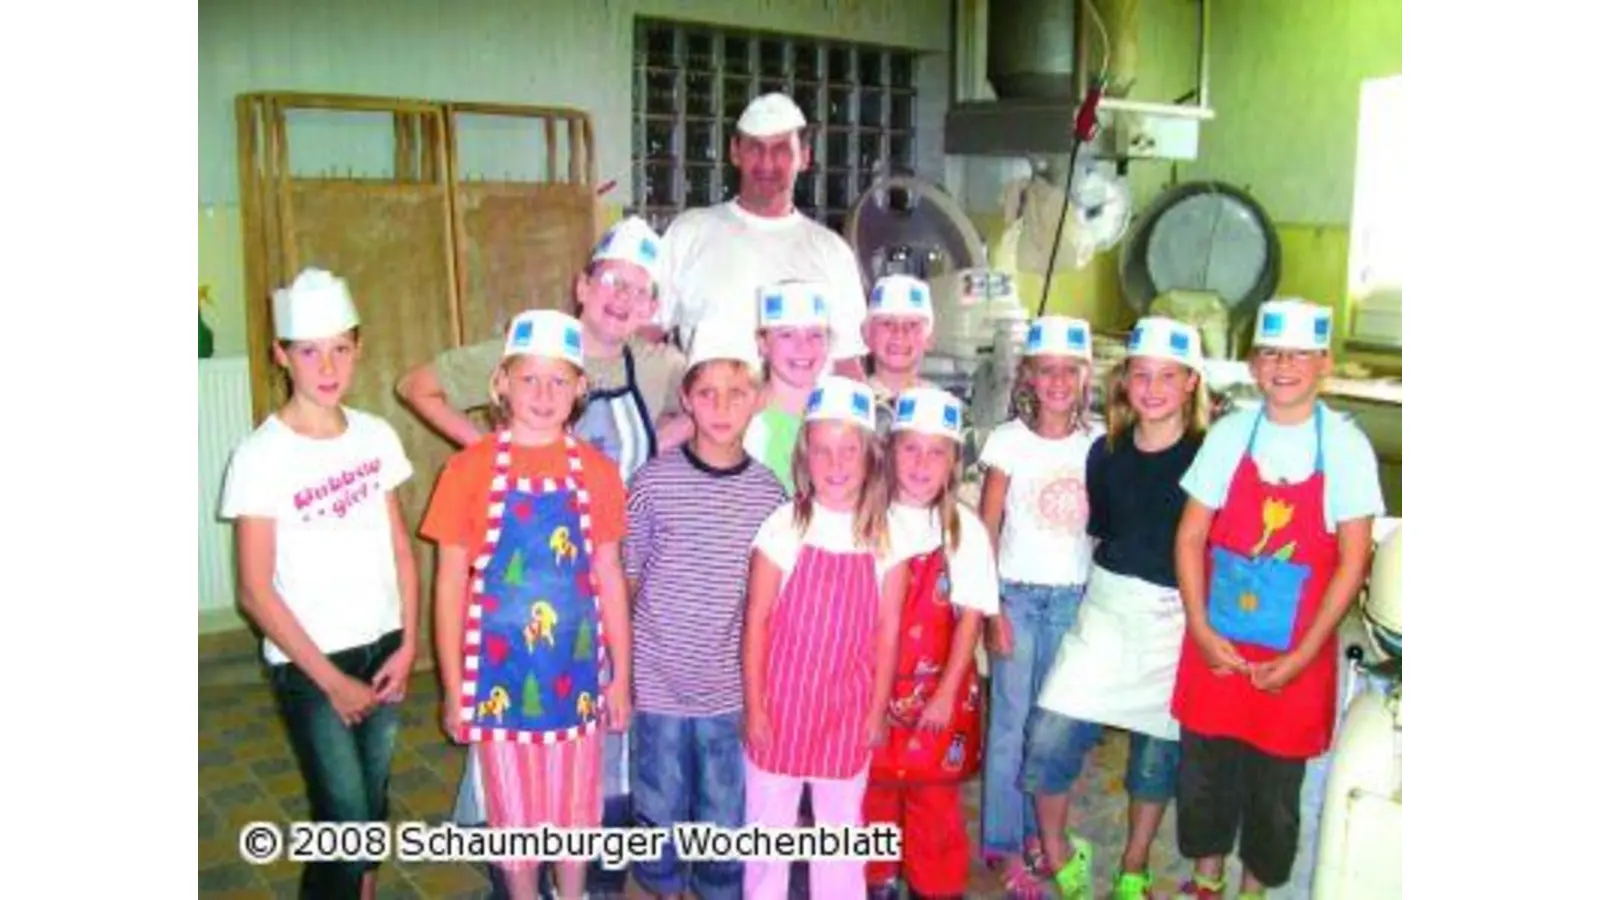
{"type": "Polygon", "coordinates": [[[800,548],[778,593],[766,657],[771,740],[750,749],[763,772],[853,778],[867,765],[878,575],[870,552],[800,548]]]}

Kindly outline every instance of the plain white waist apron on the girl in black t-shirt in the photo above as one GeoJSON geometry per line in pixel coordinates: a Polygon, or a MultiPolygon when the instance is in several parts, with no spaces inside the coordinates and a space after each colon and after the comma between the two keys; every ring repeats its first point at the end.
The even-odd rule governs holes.
{"type": "Polygon", "coordinates": [[[1045,676],[1040,705],[1080,722],[1178,740],[1170,709],[1182,644],[1176,588],[1096,565],[1078,620],[1045,676]]]}

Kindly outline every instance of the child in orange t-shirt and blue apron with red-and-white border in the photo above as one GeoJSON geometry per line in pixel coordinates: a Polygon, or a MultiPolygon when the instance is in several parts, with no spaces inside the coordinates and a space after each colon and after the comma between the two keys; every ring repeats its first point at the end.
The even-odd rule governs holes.
{"type": "MultiPolygon", "coordinates": [[[[619,543],[622,477],[571,436],[582,330],[550,309],[510,323],[493,392],[507,426],[445,464],[422,522],[438,541],[442,725],[472,745],[490,828],[597,828],[602,725],[627,729],[632,687],[619,543]]],[[[514,900],[536,860],[496,863],[514,900]]],[[[562,897],[584,860],[562,860],[562,897]]]]}

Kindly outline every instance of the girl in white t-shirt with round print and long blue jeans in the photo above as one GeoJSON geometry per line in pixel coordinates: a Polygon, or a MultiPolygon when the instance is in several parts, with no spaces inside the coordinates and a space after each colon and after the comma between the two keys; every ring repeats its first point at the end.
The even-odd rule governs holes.
{"type": "Polygon", "coordinates": [[[984,857],[1019,895],[1045,892],[1038,820],[1018,786],[1026,725],[1077,618],[1093,549],[1085,466],[1101,429],[1090,423],[1090,341],[1083,320],[1034,320],[1018,373],[1024,412],[989,436],[979,458],[979,512],[1000,562],[1000,615],[987,634],[982,841],[984,857]]]}

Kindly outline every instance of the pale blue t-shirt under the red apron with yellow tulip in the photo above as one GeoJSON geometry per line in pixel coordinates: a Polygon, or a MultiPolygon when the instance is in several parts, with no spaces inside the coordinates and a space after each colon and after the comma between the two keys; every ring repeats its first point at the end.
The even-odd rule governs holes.
{"type": "MultiPolygon", "coordinates": [[[[1235,410],[1206,431],[1205,444],[1189,464],[1181,487],[1211,509],[1221,509],[1234,471],[1245,458],[1250,429],[1259,405],[1235,410]]],[[[1269,482],[1302,482],[1317,468],[1315,416],[1301,424],[1274,424],[1261,416],[1256,450],[1251,456],[1269,482]]],[[[1384,514],[1384,490],[1378,480],[1378,455],[1366,434],[1344,413],[1322,407],[1323,525],[1384,514]]]]}

